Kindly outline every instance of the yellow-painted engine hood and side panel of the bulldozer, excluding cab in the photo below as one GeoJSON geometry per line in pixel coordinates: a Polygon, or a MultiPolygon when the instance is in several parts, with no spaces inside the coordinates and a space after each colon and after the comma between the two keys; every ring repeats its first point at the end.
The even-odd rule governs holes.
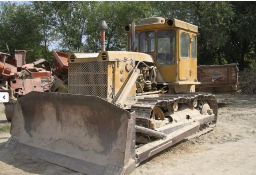
{"type": "MultiPolygon", "coordinates": [[[[88,63],[92,61],[96,62],[107,62],[107,99],[108,102],[113,102],[113,99],[120,93],[128,80],[128,77],[135,67],[136,61],[146,61],[153,63],[153,59],[150,55],[145,53],[136,53],[136,52],[100,52],[94,54],[87,53],[72,53],[68,56],[68,63],[88,63]],[[105,60],[102,60],[102,53],[106,53],[107,57],[105,60]],[[124,53],[124,54],[122,54],[124,53]],[[75,56],[74,61],[71,61],[71,57],[75,56]]],[[[81,72],[82,73],[82,72],[81,72]]],[[[91,76],[95,75],[98,72],[89,72],[91,76]]],[[[136,103],[136,84],[132,86],[129,90],[128,97],[125,101],[125,109],[131,108],[131,105],[136,103]]]]}

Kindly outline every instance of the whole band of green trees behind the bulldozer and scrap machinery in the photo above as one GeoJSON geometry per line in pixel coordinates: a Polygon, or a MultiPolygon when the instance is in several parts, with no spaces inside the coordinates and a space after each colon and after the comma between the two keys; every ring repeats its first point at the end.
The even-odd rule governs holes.
{"type": "Polygon", "coordinates": [[[185,1],[37,1],[0,3],[0,50],[28,52],[28,62],[52,49],[99,52],[99,21],[108,24],[106,49],[126,48],[124,24],[145,17],[176,18],[199,27],[198,64],[239,63],[252,66],[256,57],[256,3],[185,1]]]}

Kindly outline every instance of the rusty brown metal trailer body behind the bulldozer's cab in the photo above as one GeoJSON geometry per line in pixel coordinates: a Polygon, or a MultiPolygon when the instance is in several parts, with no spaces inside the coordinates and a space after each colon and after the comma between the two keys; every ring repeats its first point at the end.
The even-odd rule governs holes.
{"type": "Polygon", "coordinates": [[[197,66],[196,91],[212,93],[239,93],[238,67],[236,64],[197,66]]]}

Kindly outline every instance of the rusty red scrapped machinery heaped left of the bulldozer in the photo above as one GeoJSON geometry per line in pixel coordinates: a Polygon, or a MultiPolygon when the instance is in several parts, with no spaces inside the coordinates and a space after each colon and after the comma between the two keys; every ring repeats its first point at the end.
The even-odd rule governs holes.
{"type": "Polygon", "coordinates": [[[0,92],[9,93],[9,102],[4,103],[8,121],[11,121],[14,105],[20,96],[31,91],[55,92],[57,90],[61,83],[59,78],[65,78],[63,73],[67,71],[67,61],[61,61],[63,54],[65,55],[62,52],[53,51],[56,72],[53,75],[52,68],[45,59],[26,64],[25,50],[16,50],[14,57],[0,52],[0,92]]]}

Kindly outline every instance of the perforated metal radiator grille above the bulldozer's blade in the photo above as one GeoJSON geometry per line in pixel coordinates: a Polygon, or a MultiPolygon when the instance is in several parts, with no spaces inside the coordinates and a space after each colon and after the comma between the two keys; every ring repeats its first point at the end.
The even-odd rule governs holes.
{"type": "Polygon", "coordinates": [[[108,62],[69,63],[68,93],[108,96],[108,62]]]}

